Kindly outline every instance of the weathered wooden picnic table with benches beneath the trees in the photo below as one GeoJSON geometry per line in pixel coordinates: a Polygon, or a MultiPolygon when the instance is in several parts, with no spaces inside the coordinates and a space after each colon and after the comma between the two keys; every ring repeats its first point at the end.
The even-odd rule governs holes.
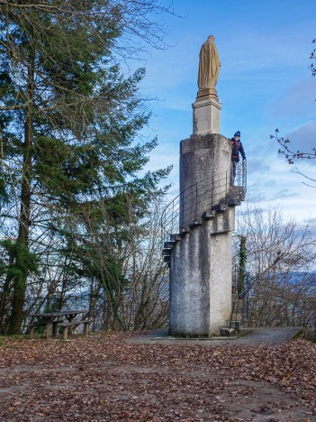
{"type": "MultiPolygon", "coordinates": [[[[63,323],[62,320],[60,320],[60,317],[65,316],[68,320],[67,328],[68,328],[68,334],[71,335],[72,326],[75,325],[75,318],[77,315],[80,314],[86,314],[86,310],[65,310],[60,312],[48,312],[43,314],[31,314],[32,317],[37,318],[37,322],[31,325],[31,338],[34,335],[34,328],[35,326],[44,325],[46,326],[46,338],[50,338],[52,335],[53,338],[56,338],[58,335],[58,326],[63,323]],[[41,321],[44,320],[44,322],[41,323],[41,321]],[[51,333],[52,328],[52,333],[51,333]]],[[[78,322],[78,325],[80,324],[80,320],[76,321],[78,322]]],[[[84,322],[84,320],[82,320],[84,322]]]]}

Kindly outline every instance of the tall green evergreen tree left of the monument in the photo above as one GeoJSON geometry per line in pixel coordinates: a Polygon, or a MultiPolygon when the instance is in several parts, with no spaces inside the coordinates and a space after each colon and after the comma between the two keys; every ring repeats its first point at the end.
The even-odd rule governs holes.
{"type": "Polygon", "coordinates": [[[27,280],[40,265],[34,239],[62,236],[65,216],[118,186],[145,210],[167,175],[138,177],[157,140],[134,141],[149,119],[138,94],[144,69],[123,78],[113,64],[128,3],[0,2],[1,216],[13,238],[2,242],[0,272],[10,333],[21,329],[27,280]]]}

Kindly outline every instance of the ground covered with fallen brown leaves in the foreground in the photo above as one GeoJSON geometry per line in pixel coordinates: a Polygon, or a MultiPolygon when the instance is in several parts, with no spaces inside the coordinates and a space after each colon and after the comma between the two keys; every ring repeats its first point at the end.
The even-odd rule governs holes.
{"type": "Polygon", "coordinates": [[[313,344],[211,348],[137,337],[6,342],[0,420],[316,421],[313,344]]]}

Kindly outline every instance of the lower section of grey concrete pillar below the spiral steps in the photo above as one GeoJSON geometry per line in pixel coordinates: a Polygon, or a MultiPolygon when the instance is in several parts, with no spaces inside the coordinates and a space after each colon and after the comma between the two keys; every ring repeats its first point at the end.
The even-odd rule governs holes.
{"type": "Polygon", "coordinates": [[[230,318],[234,211],[227,208],[176,243],[170,262],[170,334],[210,335],[230,318]]]}

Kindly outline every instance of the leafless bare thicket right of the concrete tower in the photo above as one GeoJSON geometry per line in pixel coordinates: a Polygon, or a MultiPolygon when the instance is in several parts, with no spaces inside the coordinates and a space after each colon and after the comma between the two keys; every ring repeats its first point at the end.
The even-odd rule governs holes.
{"type": "MultiPolygon", "coordinates": [[[[316,242],[308,227],[284,218],[281,209],[247,205],[238,215],[246,237],[248,323],[305,326],[315,318],[316,242]]],[[[238,252],[235,252],[239,259],[238,252]]]]}

